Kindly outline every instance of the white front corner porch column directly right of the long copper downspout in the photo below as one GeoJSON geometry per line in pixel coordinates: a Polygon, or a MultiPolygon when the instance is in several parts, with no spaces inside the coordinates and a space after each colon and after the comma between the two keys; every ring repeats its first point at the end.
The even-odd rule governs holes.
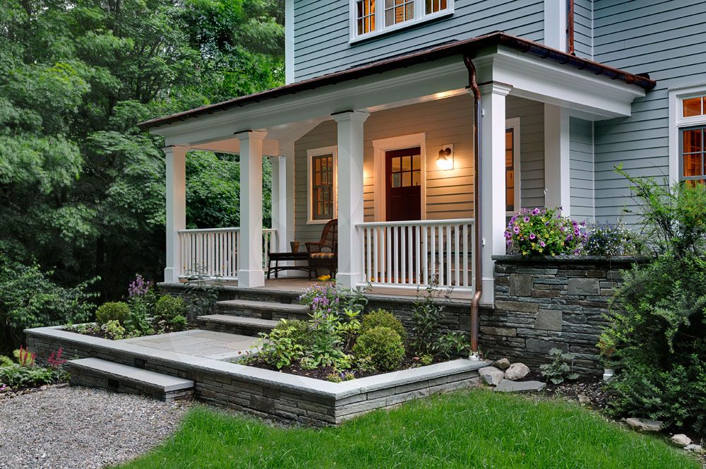
{"type": "Polygon", "coordinates": [[[493,304],[492,257],[505,254],[505,96],[510,90],[510,86],[497,82],[481,86],[481,302],[484,304],[493,304]]]}

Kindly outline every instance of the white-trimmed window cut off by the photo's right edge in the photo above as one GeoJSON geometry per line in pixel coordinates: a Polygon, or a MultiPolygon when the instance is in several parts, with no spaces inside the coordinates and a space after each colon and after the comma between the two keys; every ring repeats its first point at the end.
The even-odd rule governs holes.
{"type": "Polygon", "coordinates": [[[669,91],[669,179],[706,184],[706,85],[669,91]]]}

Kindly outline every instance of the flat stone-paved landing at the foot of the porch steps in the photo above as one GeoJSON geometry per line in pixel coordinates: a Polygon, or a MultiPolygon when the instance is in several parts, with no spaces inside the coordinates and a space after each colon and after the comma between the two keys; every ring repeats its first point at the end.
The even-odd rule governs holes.
{"type": "Polygon", "coordinates": [[[120,342],[213,360],[228,360],[243,355],[246,350],[250,350],[255,345],[257,340],[256,337],[194,329],[161,336],[124,339],[120,342]]]}

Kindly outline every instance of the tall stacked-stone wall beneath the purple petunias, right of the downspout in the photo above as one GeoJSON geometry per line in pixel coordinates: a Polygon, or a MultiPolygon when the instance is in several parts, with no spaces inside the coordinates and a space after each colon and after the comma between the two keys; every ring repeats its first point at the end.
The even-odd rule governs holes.
{"type": "Polygon", "coordinates": [[[636,258],[494,256],[495,309],[481,311],[480,346],[537,370],[549,349],[577,355],[582,374],[600,374],[598,343],[621,271],[636,258]]]}

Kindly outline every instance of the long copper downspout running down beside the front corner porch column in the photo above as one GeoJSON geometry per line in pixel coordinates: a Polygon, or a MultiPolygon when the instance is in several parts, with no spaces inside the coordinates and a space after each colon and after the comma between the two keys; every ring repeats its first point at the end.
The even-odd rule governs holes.
{"type": "Polygon", "coordinates": [[[473,92],[473,157],[474,157],[474,179],[473,179],[473,217],[475,218],[474,229],[474,253],[475,253],[475,284],[476,292],[471,300],[471,356],[478,357],[478,328],[481,296],[483,295],[483,273],[481,271],[481,146],[480,146],[480,126],[481,126],[481,90],[478,87],[476,67],[467,55],[463,56],[463,63],[468,69],[468,88],[473,92]]]}

